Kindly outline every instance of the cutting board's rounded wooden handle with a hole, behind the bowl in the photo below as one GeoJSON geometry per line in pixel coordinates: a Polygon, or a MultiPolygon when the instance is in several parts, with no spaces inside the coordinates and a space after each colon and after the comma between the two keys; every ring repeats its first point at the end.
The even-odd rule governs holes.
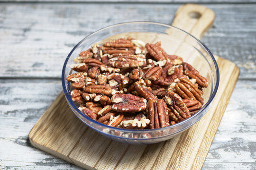
{"type": "Polygon", "coordinates": [[[213,25],[215,13],[198,4],[185,4],[176,11],[172,26],[200,39],[213,25]]]}

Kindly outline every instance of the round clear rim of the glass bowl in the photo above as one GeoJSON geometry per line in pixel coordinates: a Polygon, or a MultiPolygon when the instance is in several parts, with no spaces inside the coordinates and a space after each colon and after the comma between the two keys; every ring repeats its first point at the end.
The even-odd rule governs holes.
{"type": "MultiPolygon", "coordinates": [[[[169,26],[169,25],[166,25],[166,24],[162,24],[162,23],[157,23],[157,22],[148,22],[148,21],[136,21],[136,22],[124,22],[124,23],[119,23],[119,24],[114,24],[114,25],[110,25],[110,26],[106,26],[106,27],[103,27],[89,35],[87,35],[85,38],[83,38],[80,42],[78,42],[74,48],[70,51],[70,53],[68,54],[67,58],[65,59],[65,62],[64,62],[64,65],[63,65],[63,69],[62,69],[62,87],[63,87],[63,91],[64,91],[64,95],[67,99],[67,101],[69,102],[69,105],[71,105],[83,118],[91,121],[92,123],[95,123],[101,127],[106,127],[106,128],[109,128],[111,130],[118,130],[118,131],[123,131],[123,132],[126,132],[126,133],[148,133],[148,132],[155,132],[155,131],[162,131],[162,130],[165,130],[165,129],[169,129],[169,128],[174,128],[174,127],[178,127],[178,126],[182,126],[184,123],[190,121],[191,119],[193,119],[195,117],[195,115],[198,115],[200,114],[203,110],[205,110],[209,104],[212,102],[212,100],[214,99],[216,93],[217,93],[217,90],[218,90],[218,87],[219,87],[219,67],[218,67],[218,64],[217,64],[217,61],[215,60],[215,58],[213,57],[213,54],[210,52],[210,50],[206,47],[206,45],[204,45],[204,43],[202,43],[199,39],[197,39],[196,37],[194,37],[192,34],[189,34],[187,33],[186,31],[180,29],[180,28],[177,28],[175,26],[169,26]],[[208,100],[208,102],[205,103],[205,105],[201,108],[201,110],[199,112],[197,112],[196,114],[192,115],[190,118],[188,119],[185,119],[179,123],[176,123],[172,126],[168,126],[168,127],[161,127],[161,128],[158,128],[158,129],[145,129],[145,130],[137,130],[137,129],[123,129],[123,128],[117,128],[117,127],[110,127],[110,126],[107,126],[105,124],[102,124],[102,123],[99,123],[97,122],[96,120],[93,120],[87,116],[85,116],[81,110],[79,110],[74,102],[72,101],[71,99],[71,96],[70,94],[68,93],[66,87],[65,87],[65,69],[66,69],[66,65],[67,65],[67,62],[71,56],[71,54],[73,53],[73,51],[82,43],[84,42],[87,38],[93,36],[94,34],[97,34],[105,29],[109,29],[109,28],[112,28],[112,27],[115,27],[115,26],[121,26],[121,25],[130,25],[130,24],[153,24],[153,25],[159,25],[159,26],[166,26],[166,27],[169,27],[169,28],[174,28],[174,29],[178,29],[182,32],[184,32],[185,34],[191,36],[192,38],[195,39],[195,41],[197,41],[198,43],[200,43],[205,49],[206,51],[208,52],[208,54],[210,55],[211,59],[213,60],[213,63],[214,63],[214,66],[215,66],[215,69],[216,69],[216,84],[215,84],[215,88],[212,92],[212,95],[210,95],[210,98],[208,100]]],[[[80,119],[78,117],[78,119],[80,119]]],[[[200,118],[201,119],[201,118],[200,118]]],[[[198,119],[198,120],[200,120],[198,119]]],[[[197,120],[197,121],[198,121],[197,120]]],[[[81,120],[82,121],[82,120],[81,120]]],[[[197,122],[196,121],[196,122],[197,122]]],[[[83,121],[82,121],[83,122],[83,121]]],[[[196,123],[195,122],[195,123],[196,123]]],[[[191,127],[192,125],[189,125],[187,126],[186,128],[183,128],[183,129],[187,129],[188,127],[191,127]]],[[[90,126],[91,127],[91,126],[90,126]]],[[[99,129],[96,129],[95,127],[91,127],[93,128],[94,130],[98,131],[98,132],[101,132],[99,129]]],[[[180,131],[183,131],[183,129],[175,132],[175,133],[172,133],[172,134],[168,134],[168,135],[173,135],[173,134],[176,134],[180,131]]],[[[101,133],[104,133],[104,132],[101,132],[101,133]]],[[[107,134],[107,133],[104,133],[105,135],[110,135],[110,134],[107,134]]],[[[167,135],[167,136],[168,136],[167,135]]],[[[113,135],[110,135],[110,136],[113,136],[113,135]]],[[[115,136],[117,138],[126,138],[126,137],[120,137],[120,136],[115,136]]],[[[162,136],[158,136],[158,137],[162,137],[162,136]]],[[[154,137],[155,138],[155,137],[154,137]]],[[[140,138],[126,138],[126,139],[134,139],[134,140],[143,140],[143,139],[140,139],[140,138]]],[[[145,138],[146,140],[149,139],[149,138],[145,138]]]]}

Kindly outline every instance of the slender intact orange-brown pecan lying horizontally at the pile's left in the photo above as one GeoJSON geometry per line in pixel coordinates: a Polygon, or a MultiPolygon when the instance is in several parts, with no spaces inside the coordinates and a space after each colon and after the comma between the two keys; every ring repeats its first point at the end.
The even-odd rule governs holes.
{"type": "Polygon", "coordinates": [[[111,94],[112,89],[106,85],[90,85],[83,87],[82,90],[86,93],[96,93],[96,94],[111,94]]]}

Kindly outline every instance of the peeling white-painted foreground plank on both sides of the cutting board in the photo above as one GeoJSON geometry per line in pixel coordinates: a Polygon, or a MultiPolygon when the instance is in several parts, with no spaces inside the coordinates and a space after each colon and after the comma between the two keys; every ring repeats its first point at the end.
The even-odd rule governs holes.
{"type": "MultiPolygon", "coordinates": [[[[0,80],[0,169],[79,170],[28,141],[30,129],[61,91],[60,80],[0,80]]],[[[238,81],[203,170],[255,167],[255,93],[255,81],[238,81]]]]}

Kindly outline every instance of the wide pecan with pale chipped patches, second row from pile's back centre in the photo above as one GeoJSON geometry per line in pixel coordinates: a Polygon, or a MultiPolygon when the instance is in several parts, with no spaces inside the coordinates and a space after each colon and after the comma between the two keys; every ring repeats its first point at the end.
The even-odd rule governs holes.
{"type": "Polygon", "coordinates": [[[109,59],[109,66],[115,68],[134,68],[146,64],[146,57],[143,54],[113,54],[109,59]]]}

